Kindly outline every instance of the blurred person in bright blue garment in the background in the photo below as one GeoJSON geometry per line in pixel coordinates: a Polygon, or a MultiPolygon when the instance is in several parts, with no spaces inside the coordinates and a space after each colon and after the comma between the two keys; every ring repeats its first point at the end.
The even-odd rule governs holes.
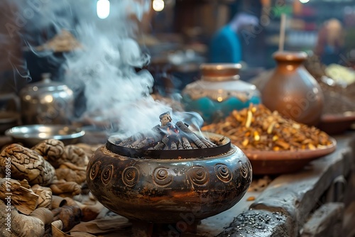
{"type": "Polygon", "coordinates": [[[234,18],[212,37],[209,45],[209,61],[221,63],[237,63],[242,60],[242,44],[240,31],[259,23],[258,18],[250,13],[236,13],[234,18]]]}

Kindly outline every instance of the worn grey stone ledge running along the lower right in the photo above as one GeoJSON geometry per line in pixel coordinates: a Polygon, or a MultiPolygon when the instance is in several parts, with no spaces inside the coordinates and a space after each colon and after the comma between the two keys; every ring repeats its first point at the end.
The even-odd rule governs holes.
{"type": "Polygon", "coordinates": [[[219,237],[298,236],[311,211],[322,205],[319,201],[322,194],[327,192],[334,179],[346,177],[354,166],[354,141],[354,134],[339,136],[334,153],[314,160],[300,172],[277,177],[251,204],[250,209],[239,214],[219,237]],[[265,215],[272,221],[260,231],[253,221],[248,221],[251,217],[256,219],[265,215]],[[283,218],[274,218],[275,215],[283,218]]]}

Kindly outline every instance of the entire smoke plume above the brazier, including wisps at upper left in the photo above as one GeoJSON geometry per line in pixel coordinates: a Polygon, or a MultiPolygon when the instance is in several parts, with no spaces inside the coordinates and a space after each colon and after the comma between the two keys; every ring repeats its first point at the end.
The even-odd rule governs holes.
{"type": "MultiPolygon", "coordinates": [[[[61,69],[65,83],[84,96],[85,110],[77,119],[104,124],[111,133],[127,132],[131,136],[157,125],[160,114],[172,114],[170,106],[150,96],[153,77],[141,70],[150,57],[135,40],[139,34],[137,22],[150,10],[151,1],[110,0],[111,13],[104,20],[96,15],[96,1],[7,0],[16,7],[6,36],[19,35],[28,50],[56,62],[54,54],[38,52],[35,46],[46,43],[62,29],[75,35],[82,48],[65,53],[61,69]]],[[[173,118],[183,119],[180,114],[173,114],[173,118]]]]}

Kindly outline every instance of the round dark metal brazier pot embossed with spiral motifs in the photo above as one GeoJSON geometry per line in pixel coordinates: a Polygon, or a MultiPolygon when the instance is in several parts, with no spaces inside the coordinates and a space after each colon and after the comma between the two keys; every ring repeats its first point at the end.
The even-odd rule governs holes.
{"type": "Polygon", "coordinates": [[[190,150],[126,148],[111,137],[87,165],[94,197],[133,221],[197,221],[234,206],[251,184],[251,164],[229,138],[208,133],[218,145],[190,150]]]}

